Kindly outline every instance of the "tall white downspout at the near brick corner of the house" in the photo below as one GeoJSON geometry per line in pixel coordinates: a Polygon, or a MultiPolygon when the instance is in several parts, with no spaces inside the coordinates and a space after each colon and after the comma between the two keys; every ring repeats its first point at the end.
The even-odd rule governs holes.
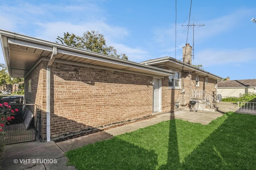
{"type": "Polygon", "coordinates": [[[57,55],[57,48],[52,48],[52,56],[46,69],[46,141],[51,141],[51,66],[57,55]]]}

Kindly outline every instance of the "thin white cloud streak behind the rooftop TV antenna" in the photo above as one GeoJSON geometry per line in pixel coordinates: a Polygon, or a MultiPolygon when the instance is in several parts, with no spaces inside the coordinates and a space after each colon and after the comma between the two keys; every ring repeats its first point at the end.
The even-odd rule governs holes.
{"type": "MultiPolygon", "coordinates": [[[[241,9],[236,10],[226,16],[220,16],[211,20],[197,21],[197,23],[204,24],[204,26],[194,28],[194,39],[195,45],[200,45],[201,47],[206,47],[204,42],[209,42],[211,38],[222,36],[225,33],[242,27],[242,23],[245,21],[246,16],[251,14],[252,10],[241,9]]],[[[190,23],[192,25],[193,23],[190,23]]],[[[184,24],[186,25],[186,24],[184,24]]],[[[182,23],[177,23],[176,31],[175,24],[170,24],[168,27],[157,27],[152,29],[152,42],[161,48],[159,52],[171,52],[175,51],[175,41],[176,50],[181,50],[186,43],[193,43],[193,27],[191,26],[188,32],[187,40],[187,27],[182,26],[182,23]]]]}

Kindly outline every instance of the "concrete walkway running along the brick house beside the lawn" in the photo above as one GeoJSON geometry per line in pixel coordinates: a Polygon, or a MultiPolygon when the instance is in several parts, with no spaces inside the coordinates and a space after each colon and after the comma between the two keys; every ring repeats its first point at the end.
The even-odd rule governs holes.
{"type": "Polygon", "coordinates": [[[3,170],[75,170],[74,166],[66,166],[68,158],[65,152],[76,149],[90,143],[110,139],[113,136],[135,131],[137,129],[154,125],[161,121],[170,119],[183,119],[193,123],[204,125],[223,115],[223,112],[234,111],[234,105],[222,105],[220,111],[216,112],[195,112],[175,111],[156,115],[152,119],[131,123],[106,131],[86,135],[76,139],[70,139],[59,143],[33,141],[6,145],[3,152],[3,170]]]}

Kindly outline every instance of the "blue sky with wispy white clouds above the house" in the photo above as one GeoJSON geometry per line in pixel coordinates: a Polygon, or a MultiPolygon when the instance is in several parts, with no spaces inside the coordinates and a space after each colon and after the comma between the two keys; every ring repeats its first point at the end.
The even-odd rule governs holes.
{"type": "MultiPolygon", "coordinates": [[[[182,26],[188,25],[190,2],[177,0],[175,10],[175,0],[1,0],[0,29],[52,42],[64,32],[82,36],[94,30],[130,61],[180,60],[182,47],[193,45],[192,27],[182,26]]],[[[190,24],[204,24],[194,27],[192,64],[230,80],[256,78],[252,18],[254,0],[192,0],[190,24]]]]}

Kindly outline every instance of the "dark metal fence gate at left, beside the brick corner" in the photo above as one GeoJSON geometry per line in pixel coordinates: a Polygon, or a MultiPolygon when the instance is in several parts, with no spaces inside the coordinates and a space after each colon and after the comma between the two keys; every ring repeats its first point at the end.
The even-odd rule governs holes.
{"type": "Polygon", "coordinates": [[[36,107],[35,114],[28,110],[32,104],[9,104],[12,109],[18,109],[12,121],[4,126],[5,144],[36,141],[38,127],[40,127],[40,110],[36,107]]]}

